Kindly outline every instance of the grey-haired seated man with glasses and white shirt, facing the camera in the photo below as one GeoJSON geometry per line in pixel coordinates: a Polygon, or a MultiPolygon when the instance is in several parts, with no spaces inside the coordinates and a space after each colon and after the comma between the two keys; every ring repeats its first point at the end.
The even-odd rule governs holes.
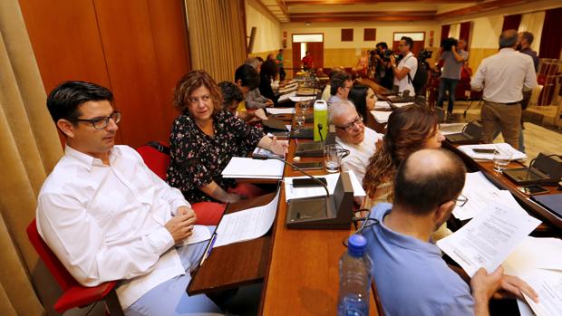
{"type": "Polygon", "coordinates": [[[342,160],[342,169],[353,170],[359,183],[363,183],[369,159],[373,157],[376,143],[383,140],[383,134],[365,127],[363,118],[350,101],[334,103],[330,107],[330,122],[335,126],[335,141],[349,150],[349,155],[342,160]]]}

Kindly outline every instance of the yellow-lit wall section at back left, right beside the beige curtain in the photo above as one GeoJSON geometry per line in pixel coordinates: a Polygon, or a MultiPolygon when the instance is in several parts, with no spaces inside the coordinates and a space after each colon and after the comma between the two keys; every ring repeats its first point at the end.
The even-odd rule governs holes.
{"type": "Polygon", "coordinates": [[[257,3],[246,0],[246,32],[250,35],[252,27],[257,27],[256,40],[252,53],[276,51],[281,48],[281,24],[275,16],[257,3]]]}

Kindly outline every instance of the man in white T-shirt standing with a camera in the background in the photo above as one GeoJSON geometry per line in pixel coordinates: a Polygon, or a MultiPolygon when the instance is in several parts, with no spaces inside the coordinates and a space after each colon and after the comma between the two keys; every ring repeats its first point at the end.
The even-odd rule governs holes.
{"type": "Polygon", "coordinates": [[[415,97],[413,89],[413,78],[418,70],[418,60],[412,51],[413,40],[411,37],[402,36],[398,44],[398,50],[402,55],[402,60],[396,65],[396,58],[391,55],[392,73],[394,73],[394,85],[398,86],[398,93],[402,96],[403,91],[408,91],[410,97],[415,97]],[[410,74],[410,76],[408,76],[410,74]]]}

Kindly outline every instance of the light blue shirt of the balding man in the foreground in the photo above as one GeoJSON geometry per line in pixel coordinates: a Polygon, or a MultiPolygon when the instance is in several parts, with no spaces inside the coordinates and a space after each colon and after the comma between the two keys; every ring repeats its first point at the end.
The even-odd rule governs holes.
{"type": "Polygon", "coordinates": [[[469,285],[443,261],[437,245],[395,233],[383,225],[383,217],[391,208],[388,203],[374,206],[371,217],[381,224],[363,230],[384,313],[474,315],[469,285]]]}

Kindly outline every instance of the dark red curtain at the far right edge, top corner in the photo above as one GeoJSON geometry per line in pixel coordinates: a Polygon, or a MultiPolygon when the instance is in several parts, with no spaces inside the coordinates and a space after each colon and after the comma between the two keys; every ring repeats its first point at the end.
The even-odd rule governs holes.
{"type": "Polygon", "coordinates": [[[540,37],[540,58],[560,58],[562,49],[562,7],[547,10],[545,13],[545,23],[542,26],[540,37]]]}

